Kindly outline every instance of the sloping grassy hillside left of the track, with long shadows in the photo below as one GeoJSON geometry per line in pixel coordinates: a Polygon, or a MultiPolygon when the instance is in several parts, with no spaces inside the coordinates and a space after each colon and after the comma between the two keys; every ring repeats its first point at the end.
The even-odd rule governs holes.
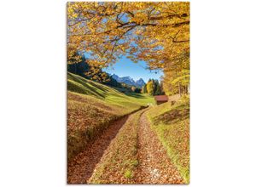
{"type": "Polygon", "coordinates": [[[154,103],[148,94],[125,95],[72,73],[67,74],[67,90],[68,160],[114,120],[154,103]]]}

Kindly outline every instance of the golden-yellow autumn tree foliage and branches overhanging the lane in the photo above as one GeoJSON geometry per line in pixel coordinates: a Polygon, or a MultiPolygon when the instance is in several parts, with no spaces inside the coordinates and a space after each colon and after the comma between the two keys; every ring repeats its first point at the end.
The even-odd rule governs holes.
{"type": "Polygon", "coordinates": [[[68,56],[75,48],[89,55],[91,66],[100,68],[122,55],[134,62],[143,60],[148,69],[164,71],[164,88],[179,85],[185,93],[189,87],[189,23],[187,2],[68,3],[68,56]],[[167,77],[170,74],[174,77],[167,77]]]}

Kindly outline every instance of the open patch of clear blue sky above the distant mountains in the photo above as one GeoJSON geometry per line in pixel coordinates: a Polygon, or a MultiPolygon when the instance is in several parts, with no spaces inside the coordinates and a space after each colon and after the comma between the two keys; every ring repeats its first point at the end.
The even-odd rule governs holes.
{"type": "Polygon", "coordinates": [[[135,81],[140,78],[143,78],[144,82],[148,82],[149,78],[154,78],[160,80],[160,77],[163,75],[162,71],[149,71],[145,68],[147,67],[146,62],[138,61],[138,63],[134,63],[131,59],[127,59],[123,56],[118,60],[112,67],[108,67],[103,69],[110,74],[116,74],[119,77],[131,77],[135,81]],[[155,73],[156,72],[156,73],[155,73]]]}

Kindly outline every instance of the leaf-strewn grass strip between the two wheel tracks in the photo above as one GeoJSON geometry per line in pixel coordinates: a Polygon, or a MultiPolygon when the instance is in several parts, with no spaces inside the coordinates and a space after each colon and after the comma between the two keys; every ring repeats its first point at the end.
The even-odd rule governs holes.
{"type": "Polygon", "coordinates": [[[137,136],[143,111],[132,114],[109,145],[108,154],[89,180],[89,184],[135,184],[138,166],[137,136]]]}

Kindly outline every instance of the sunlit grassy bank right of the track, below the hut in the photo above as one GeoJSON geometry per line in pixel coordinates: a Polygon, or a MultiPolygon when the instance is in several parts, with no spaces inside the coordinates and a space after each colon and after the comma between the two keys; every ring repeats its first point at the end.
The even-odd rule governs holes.
{"type": "Polygon", "coordinates": [[[172,106],[169,102],[157,105],[146,115],[168,156],[189,184],[189,98],[172,106]]]}

